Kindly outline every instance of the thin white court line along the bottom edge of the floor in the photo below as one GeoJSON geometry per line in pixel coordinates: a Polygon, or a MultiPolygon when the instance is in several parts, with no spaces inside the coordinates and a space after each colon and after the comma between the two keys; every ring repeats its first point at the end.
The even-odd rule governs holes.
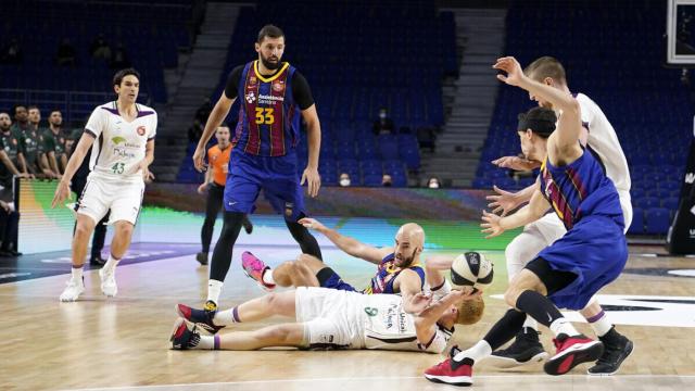
{"type": "MultiPolygon", "coordinates": [[[[483,375],[476,376],[476,379],[500,379],[500,378],[514,378],[519,379],[519,374],[513,375],[483,375]]],[[[595,379],[596,381],[612,381],[610,379],[693,379],[695,380],[695,375],[614,375],[614,376],[589,376],[589,375],[565,375],[561,378],[551,377],[544,374],[523,374],[523,379],[528,378],[547,378],[547,379],[571,379],[581,380],[581,379],[595,379]]],[[[137,390],[143,388],[168,388],[168,387],[191,387],[191,386],[243,386],[243,384],[274,384],[274,383],[282,383],[282,382],[321,382],[321,381],[349,381],[349,380],[413,380],[413,379],[422,379],[424,376],[377,376],[377,377],[334,377],[334,378],[313,378],[313,379],[275,379],[275,380],[245,380],[245,381],[220,381],[220,382],[201,382],[201,383],[176,383],[176,384],[152,384],[152,386],[125,386],[125,387],[106,387],[106,388],[90,388],[90,389],[72,389],[77,391],[97,391],[97,390],[137,390]]]]}

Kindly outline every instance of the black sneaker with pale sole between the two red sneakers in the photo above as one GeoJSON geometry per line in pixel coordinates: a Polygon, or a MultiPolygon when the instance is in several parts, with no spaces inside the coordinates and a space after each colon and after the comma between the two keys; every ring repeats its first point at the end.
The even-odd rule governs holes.
{"type": "Polygon", "coordinates": [[[539,340],[539,332],[525,327],[507,349],[492,352],[492,355],[486,361],[498,368],[514,368],[540,363],[547,356],[547,352],[545,352],[539,340]]]}

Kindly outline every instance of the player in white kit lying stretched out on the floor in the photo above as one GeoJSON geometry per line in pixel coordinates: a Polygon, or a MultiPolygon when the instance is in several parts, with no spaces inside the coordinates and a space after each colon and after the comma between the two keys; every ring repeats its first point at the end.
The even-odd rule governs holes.
{"type": "MultiPolygon", "coordinates": [[[[270,293],[215,314],[218,328],[238,323],[264,320],[278,315],[294,318],[253,331],[201,336],[182,318],[170,337],[174,349],[248,351],[271,346],[303,349],[370,349],[442,353],[454,324],[477,323],[482,308],[472,290],[453,291],[439,301],[418,293],[362,294],[326,288],[298,288],[270,293]],[[459,316],[464,314],[464,316],[459,316]]],[[[179,304],[178,313],[199,312],[179,304]]]]}

